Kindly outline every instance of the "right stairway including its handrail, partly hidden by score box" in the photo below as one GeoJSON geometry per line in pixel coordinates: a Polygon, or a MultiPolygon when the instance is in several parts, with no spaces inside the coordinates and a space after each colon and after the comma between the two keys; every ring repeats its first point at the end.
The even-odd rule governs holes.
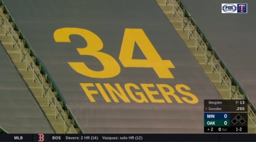
{"type": "MultiPolygon", "coordinates": [[[[188,46],[197,62],[201,65],[205,74],[212,81],[220,96],[223,99],[242,99],[243,97],[239,95],[236,86],[230,84],[230,79],[225,74],[224,69],[218,64],[218,60],[212,56],[211,51],[207,50],[206,44],[195,30],[195,27],[189,22],[187,17],[184,17],[183,11],[180,9],[176,0],[171,0],[171,3],[168,2],[167,4],[166,0],[156,1],[184,43],[188,46]]],[[[248,133],[256,133],[255,124],[255,114],[248,106],[248,133]]]]}

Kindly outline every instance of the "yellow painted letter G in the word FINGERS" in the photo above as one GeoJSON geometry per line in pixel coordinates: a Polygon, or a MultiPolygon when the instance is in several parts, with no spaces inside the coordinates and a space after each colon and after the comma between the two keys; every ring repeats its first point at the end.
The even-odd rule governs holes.
{"type": "Polygon", "coordinates": [[[133,92],[131,91],[131,87],[133,87],[134,89],[136,90],[139,90],[139,87],[135,84],[131,84],[131,83],[128,83],[128,84],[125,84],[124,85],[124,88],[125,90],[127,91],[127,93],[129,94],[129,96],[137,103],[143,103],[143,102],[148,102],[147,98],[145,97],[145,95],[143,94],[143,92],[135,92],[135,94],[137,96],[139,96],[141,99],[137,99],[133,92]]]}

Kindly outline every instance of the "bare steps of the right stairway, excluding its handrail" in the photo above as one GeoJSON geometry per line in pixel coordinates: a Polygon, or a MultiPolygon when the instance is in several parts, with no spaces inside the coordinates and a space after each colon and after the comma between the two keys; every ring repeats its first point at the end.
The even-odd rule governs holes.
{"type": "MultiPolygon", "coordinates": [[[[171,22],[172,26],[179,33],[179,35],[182,38],[182,40],[184,41],[184,43],[188,46],[189,50],[194,55],[196,61],[201,65],[205,74],[213,82],[213,85],[218,90],[220,96],[222,96],[223,99],[230,99],[229,89],[225,85],[225,82],[222,81],[220,84],[219,75],[216,73],[216,70],[214,71],[214,73],[212,73],[212,63],[211,63],[212,53],[211,53],[211,51],[206,51],[207,56],[208,56],[207,57],[208,63],[205,64],[204,52],[200,48],[197,48],[197,50],[196,50],[196,46],[197,47],[199,46],[198,43],[200,43],[202,48],[205,48],[206,44],[203,43],[203,40],[201,39],[199,33],[197,33],[195,30],[191,30],[192,28],[195,29],[194,26],[192,27],[191,23],[189,25],[190,26],[190,28],[189,28],[189,26],[188,26],[189,19],[187,17],[184,17],[183,11],[179,8],[177,1],[171,0],[171,2],[174,2],[173,6],[174,6],[174,8],[176,8],[178,13],[176,12],[176,10],[172,9],[173,6],[170,3],[168,3],[166,5],[166,0],[156,0],[156,2],[158,3],[158,5],[162,9],[162,11],[167,16],[167,18],[171,22]],[[174,15],[173,15],[173,13],[174,13],[174,15]],[[183,27],[182,27],[182,19],[179,17],[178,14],[180,16],[183,16],[183,20],[184,20],[183,27]],[[192,34],[194,36],[191,33],[189,35],[188,29],[190,29],[190,31],[192,32],[192,34]],[[196,37],[197,42],[195,41],[195,37],[196,37]]],[[[216,65],[216,63],[214,63],[214,65],[216,66],[216,68],[218,67],[216,65]]],[[[222,73],[222,76],[224,77],[225,74],[222,73]]],[[[227,80],[226,77],[224,77],[224,79],[229,84],[229,80],[227,80]]],[[[231,86],[231,98],[232,99],[242,99],[235,92],[236,92],[236,86],[231,86]]],[[[250,115],[252,117],[252,119],[255,120],[255,118],[252,115],[252,112],[250,111],[249,108],[248,108],[248,115],[250,115]]],[[[255,126],[253,125],[251,119],[248,119],[248,133],[253,133],[253,134],[256,133],[255,126]]]]}

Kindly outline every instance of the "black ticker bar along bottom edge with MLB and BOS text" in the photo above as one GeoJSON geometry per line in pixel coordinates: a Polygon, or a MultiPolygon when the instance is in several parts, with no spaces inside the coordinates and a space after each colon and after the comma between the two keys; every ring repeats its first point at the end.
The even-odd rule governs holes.
{"type": "MultiPolygon", "coordinates": [[[[211,127],[209,127],[211,128],[211,127]]],[[[236,127],[232,128],[236,130],[236,127]]],[[[0,141],[255,141],[256,134],[0,134],[0,141]]]]}

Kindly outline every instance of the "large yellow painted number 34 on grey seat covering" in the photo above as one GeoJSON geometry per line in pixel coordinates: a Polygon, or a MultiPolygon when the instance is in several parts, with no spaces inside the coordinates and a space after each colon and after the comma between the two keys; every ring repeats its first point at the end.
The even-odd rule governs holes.
{"type": "MultiPolygon", "coordinates": [[[[90,55],[98,58],[104,69],[91,70],[83,62],[68,62],[79,74],[92,78],[111,78],[120,74],[118,62],[109,54],[100,52],[103,48],[101,39],[95,33],[80,28],[61,28],[54,32],[56,42],[71,42],[70,35],[80,35],[87,41],[87,47],[77,48],[80,55],[90,55]]],[[[119,60],[124,67],[153,68],[159,78],[174,78],[169,68],[174,68],[170,60],[162,60],[153,44],[142,29],[125,29],[119,60]],[[133,59],[135,42],[145,55],[146,59],[133,59]]]]}

